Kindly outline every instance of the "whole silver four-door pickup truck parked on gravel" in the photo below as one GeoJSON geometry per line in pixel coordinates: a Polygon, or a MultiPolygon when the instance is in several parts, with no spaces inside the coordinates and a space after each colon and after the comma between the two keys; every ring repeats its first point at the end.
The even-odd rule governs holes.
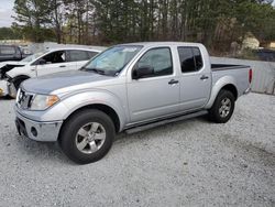
{"type": "Polygon", "coordinates": [[[20,134],[58,141],[77,163],[103,157],[117,133],[209,113],[224,123],[250,91],[249,66],[211,65],[201,44],[154,42],[112,46],[80,70],[25,80],[15,113],[20,134]]]}

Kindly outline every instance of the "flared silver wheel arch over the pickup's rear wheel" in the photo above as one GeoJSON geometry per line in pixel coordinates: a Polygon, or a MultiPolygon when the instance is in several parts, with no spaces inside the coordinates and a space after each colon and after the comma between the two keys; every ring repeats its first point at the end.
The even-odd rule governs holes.
{"type": "Polygon", "coordinates": [[[210,99],[206,105],[206,109],[210,109],[212,107],[213,101],[216,100],[216,97],[218,96],[219,91],[227,85],[233,85],[237,88],[235,78],[232,76],[223,76],[215,83],[215,85],[212,86],[210,99]]]}

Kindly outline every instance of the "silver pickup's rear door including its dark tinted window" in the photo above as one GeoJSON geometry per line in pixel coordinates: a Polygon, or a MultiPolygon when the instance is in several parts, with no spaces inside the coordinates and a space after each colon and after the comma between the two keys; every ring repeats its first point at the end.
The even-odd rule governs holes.
{"type": "Polygon", "coordinates": [[[204,64],[199,47],[177,47],[182,75],[180,107],[182,111],[202,108],[211,91],[211,74],[204,64]]]}

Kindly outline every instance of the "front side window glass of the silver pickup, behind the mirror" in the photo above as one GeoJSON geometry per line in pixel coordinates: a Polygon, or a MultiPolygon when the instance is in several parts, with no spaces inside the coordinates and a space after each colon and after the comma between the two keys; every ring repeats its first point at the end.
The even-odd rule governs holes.
{"type": "Polygon", "coordinates": [[[168,47],[152,48],[136,63],[135,69],[151,68],[147,77],[165,76],[173,74],[172,54],[168,47]]]}

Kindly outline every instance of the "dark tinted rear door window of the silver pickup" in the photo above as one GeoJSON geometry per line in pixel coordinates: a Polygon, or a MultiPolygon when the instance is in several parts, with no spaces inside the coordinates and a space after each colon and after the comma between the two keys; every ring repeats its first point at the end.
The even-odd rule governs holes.
{"type": "Polygon", "coordinates": [[[198,72],[202,66],[202,57],[198,47],[178,47],[183,73],[198,72]]]}

